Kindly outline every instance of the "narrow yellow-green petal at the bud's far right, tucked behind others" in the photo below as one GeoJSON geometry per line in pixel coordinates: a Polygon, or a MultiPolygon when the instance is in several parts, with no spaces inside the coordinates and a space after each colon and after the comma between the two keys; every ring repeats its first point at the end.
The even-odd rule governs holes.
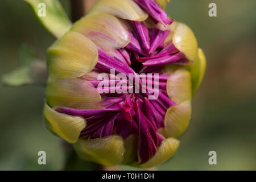
{"type": "Polygon", "coordinates": [[[204,78],[206,59],[202,49],[198,49],[198,57],[191,65],[192,93],[195,94],[204,78]]]}

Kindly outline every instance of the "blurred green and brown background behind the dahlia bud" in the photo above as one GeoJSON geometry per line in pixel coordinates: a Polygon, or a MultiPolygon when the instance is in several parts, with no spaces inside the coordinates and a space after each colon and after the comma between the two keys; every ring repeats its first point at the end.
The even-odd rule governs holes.
{"type": "MultiPolygon", "coordinates": [[[[70,14],[69,1],[61,3],[70,14]]],[[[19,66],[21,43],[44,57],[55,38],[23,1],[0,5],[1,76],[19,66]]],[[[175,155],[158,169],[256,170],[256,1],[171,0],[167,12],[192,28],[207,71],[193,99],[191,125],[175,155]],[[208,16],[210,2],[217,4],[217,17],[208,16]],[[208,163],[212,150],[217,165],[208,163]]],[[[0,86],[0,170],[63,169],[63,143],[43,125],[43,102],[43,87],[0,86]],[[38,164],[40,150],[47,165],[38,164]]]]}

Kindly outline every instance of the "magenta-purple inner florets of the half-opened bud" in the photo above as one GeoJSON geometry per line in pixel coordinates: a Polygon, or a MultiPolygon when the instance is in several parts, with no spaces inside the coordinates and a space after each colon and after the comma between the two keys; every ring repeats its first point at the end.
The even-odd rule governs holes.
{"type": "MultiPolygon", "coordinates": [[[[134,1],[147,11],[155,22],[164,25],[173,22],[153,0],[134,1]]],[[[147,28],[143,22],[128,23],[133,27],[133,31],[130,31],[130,43],[125,48],[115,50],[114,56],[109,56],[98,48],[98,62],[93,70],[98,73],[110,73],[110,69],[114,68],[115,74],[124,73],[126,76],[129,73],[159,73],[158,82],[154,82],[159,87],[158,99],[148,100],[150,93],[109,93],[101,94],[101,106],[104,109],[79,110],[59,106],[56,111],[85,118],[87,125],[81,131],[80,137],[93,139],[117,134],[126,139],[133,134],[138,141],[135,147],[138,151],[137,161],[145,163],[154,156],[164,140],[157,131],[164,127],[167,109],[175,105],[167,95],[166,84],[169,75],[164,75],[161,68],[170,63],[187,63],[187,60],[171,42],[167,46],[164,45],[164,39],[170,31],[147,28]]],[[[95,88],[100,83],[97,78],[81,79],[90,82],[95,88]]],[[[108,82],[109,90],[113,89],[111,81],[113,80],[108,82]]],[[[141,81],[139,87],[141,89],[141,81]]]]}

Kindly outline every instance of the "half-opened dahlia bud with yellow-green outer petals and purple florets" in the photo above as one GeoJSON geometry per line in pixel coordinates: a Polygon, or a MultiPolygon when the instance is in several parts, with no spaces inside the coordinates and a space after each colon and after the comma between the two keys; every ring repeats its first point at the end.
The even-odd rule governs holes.
{"type": "Polygon", "coordinates": [[[49,47],[46,126],[80,158],[148,168],[177,150],[205,57],[191,29],[168,18],[166,2],[100,0],[49,47]],[[100,93],[102,73],[110,91],[119,73],[139,79],[127,81],[127,90],[141,91],[143,78],[152,77],[158,97],[150,99],[150,90],[100,93]]]}

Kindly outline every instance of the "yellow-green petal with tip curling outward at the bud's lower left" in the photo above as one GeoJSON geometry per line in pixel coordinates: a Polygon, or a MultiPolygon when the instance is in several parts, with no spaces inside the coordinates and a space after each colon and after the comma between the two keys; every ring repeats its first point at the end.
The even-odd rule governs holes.
{"type": "Polygon", "coordinates": [[[77,142],[82,129],[86,126],[84,118],[58,113],[47,104],[44,104],[44,117],[47,128],[69,143],[77,142]]]}

